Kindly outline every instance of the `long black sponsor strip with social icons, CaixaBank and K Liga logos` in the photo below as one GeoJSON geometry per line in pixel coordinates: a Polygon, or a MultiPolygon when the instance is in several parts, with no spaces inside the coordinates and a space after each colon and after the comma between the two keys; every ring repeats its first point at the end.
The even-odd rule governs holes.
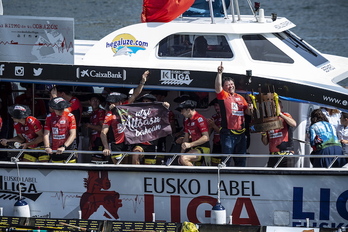
{"type": "MultiPolygon", "coordinates": [[[[101,67],[82,65],[49,65],[29,63],[8,63],[0,61],[1,81],[29,81],[36,83],[71,82],[74,85],[103,84],[115,87],[133,87],[139,84],[141,75],[147,68],[101,67]],[[132,86],[131,86],[132,85],[132,86]]],[[[292,83],[277,79],[253,76],[250,83],[246,75],[229,74],[235,80],[237,92],[257,90],[263,93],[274,91],[285,100],[315,103],[333,106],[342,111],[348,110],[347,94],[313,87],[311,85],[292,83]],[[270,88],[271,87],[271,88],[270,88]]],[[[146,87],[161,87],[166,90],[214,91],[216,72],[150,69],[146,87]]]]}

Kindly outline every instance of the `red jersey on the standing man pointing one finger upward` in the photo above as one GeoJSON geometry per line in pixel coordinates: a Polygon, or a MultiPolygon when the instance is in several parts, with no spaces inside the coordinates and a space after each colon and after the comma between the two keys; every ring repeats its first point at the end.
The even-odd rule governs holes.
{"type": "Polygon", "coordinates": [[[248,103],[243,96],[233,95],[222,90],[216,95],[221,109],[221,126],[230,130],[241,130],[244,128],[244,111],[248,103]],[[222,102],[221,102],[222,101],[222,102]]]}

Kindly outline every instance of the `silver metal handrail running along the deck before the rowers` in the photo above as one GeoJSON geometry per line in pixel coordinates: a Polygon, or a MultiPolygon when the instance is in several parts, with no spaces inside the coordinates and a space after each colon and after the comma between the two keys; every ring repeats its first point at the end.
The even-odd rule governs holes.
{"type": "MultiPolygon", "coordinates": [[[[0,148],[0,152],[18,152],[16,157],[12,157],[11,161],[8,162],[15,162],[18,161],[21,155],[25,152],[35,152],[35,153],[46,153],[45,150],[36,150],[36,149],[9,149],[9,148],[0,148]]],[[[56,150],[53,151],[55,153],[56,150]]],[[[75,154],[103,154],[102,151],[86,151],[86,150],[66,150],[63,153],[70,153],[68,159],[64,162],[64,164],[68,164],[69,160],[75,155],[75,154]]],[[[115,165],[120,165],[122,160],[127,156],[127,155],[138,155],[139,152],[116,152],[112,151],[111,155],[115,154],[121,154],[121,158],[117,160],[117,163],[115,165]]],[[[171,156],[170,159],[168,159],[166,166],[172,165],[173,161],[175,158],[177,158],[180,155],[190,155],[189,153],[159,153],[159,152],[142,152],[141,153],[144,156],[147,155],[163,155],[163,156],[171,156]]],[[[194,155],[194,154],[192,154],[194,155]]],[[[348,158],[347,155],[272,155],[272,154],[199,154],[200,156],[218,156],[218,157],[226,157],[225,160],[221,163],[222,166],[226,166],[228,160],[232,157],[246,157],[246,158],[267,158],[267,157],[280,157],[281,159],[278,160],[278,162],[273,166],[269,168],[277,168],[279,163],[285,158],[285,157],[292,157],[292,158],[323,158],[323,157],[331,157],[334,158],[330,165],[327,167],[327,169],[332,168],[334,162],[338,158],[348,158]]],[[[5,161],[6,162],[6,161],[5,161]]],[[[92,163],[92,162],[91,162],[92,163]]],[[[105,162],[93,162],[96,164],[103,164],[105,162]]],[[[295,167],[296,168],[296,167],[295,167]]]]}

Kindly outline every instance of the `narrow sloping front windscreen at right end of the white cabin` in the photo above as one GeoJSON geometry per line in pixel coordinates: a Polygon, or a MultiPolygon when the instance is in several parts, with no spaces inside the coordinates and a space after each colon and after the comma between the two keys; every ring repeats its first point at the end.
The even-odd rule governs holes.
{"type": "Polygon", "coordinates": [[[314,66],[328,61],[291,31],[284,31],[284,33],[274,35],[314,66]]]}

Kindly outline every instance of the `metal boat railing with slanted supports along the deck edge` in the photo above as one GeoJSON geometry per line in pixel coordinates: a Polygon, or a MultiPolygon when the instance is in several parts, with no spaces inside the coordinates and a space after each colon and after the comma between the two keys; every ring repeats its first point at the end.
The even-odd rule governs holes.
{"type": "MultiPolygon", "coordinates": [[[[14,149],[14,148],[1,148],[0,149],[0,153],[2,152],[8,152],[11,154],[10,161],[7,162],[19,162],[20,158],[23,154],[25,153],[31,153],[31,152],[35,152],[35,153],[45,153],[45,150],[43,149],[14,149]]],[[[55,153],[56,151],[53,151],[53,153],[55,153]]],[[[86,151],[86,150],[66,150],[64,151],[65,154],[70,154],[69,157],[67,158],[67,160],[65,160],[64,164],[69,164],[69,161],[72,159],[72,157],[74,157],[74,155],[92,155],[92,154],[103,154],[102,151],[86,151]]],[[[124,152],[124,151],[120,151],[120,152],[115,152],[112,151],[111,155],[122,155],[119,159],[117,159],[117,162],[115,163],[115,165],[122,165],[122,161],[124,160],[125,157],[127,156],[132,156],[132,155],[139,155],[139,152],[124,152]]],[[[141,155],[145,156],[165,156],[167,157],[166,162],[162,162],[160,165],[166,165],[166,166],[171,166],[174,165],[173,162],[174,160],[180,156],[180,155],[190,155],[190,153],[166,153],[166,152],[142,152],[141,155]]],[[[197,154],[192,154],[192,155],[197,155],[197,154]]],[[[279,164],[281,163],[281,161],[284,158],[298,158],[298,159],[315,159],[315,158],[324,158],[324,157],[330,157],[333,158],[330,165],[327,167],[327,169],[330,169],[333,167],[335,161],[338,158],[344,158],[344,159],[348,159],[347,155],[295,155],[295,154],[291,154],[291,155],[273,155],[273,154],[199,154],[200,156],[204,156],[204,157],[222,157],[222,162],[220,163],[219,166],[221,167],[226,167],[229,164],[229,161],[231,160],[231,158],[233,157],[245,157],[245,158],[269,158],[269,157],[279,157],[280,159],[278,160],[278,162],[273,166],[273,167],[269,167],[269,168],[279,168],[279,164]]],[[[6,162],[6,161],[5,161],[6,162]]],[[[91,161],[90,163],[94,163],[94,164],[106,164],[106,161],[91,161]]],[[[347,165],[348,166],[348,165],[347,165]]],[[[249,167],[249,166],[248,166],[249,167]]],[[[256,167],[260,167],[260,166],[256,166],[256,167]]],[[[264,166],[262,166],[264,167],[264,166]]],[[[296,168],[296,167],[293,167],[296,168]]],[[[298,168],[303,168],[303,166],[298,167],[298,168]]],[[[348,167],[347,167],[348,168],[348,167]]]]}

